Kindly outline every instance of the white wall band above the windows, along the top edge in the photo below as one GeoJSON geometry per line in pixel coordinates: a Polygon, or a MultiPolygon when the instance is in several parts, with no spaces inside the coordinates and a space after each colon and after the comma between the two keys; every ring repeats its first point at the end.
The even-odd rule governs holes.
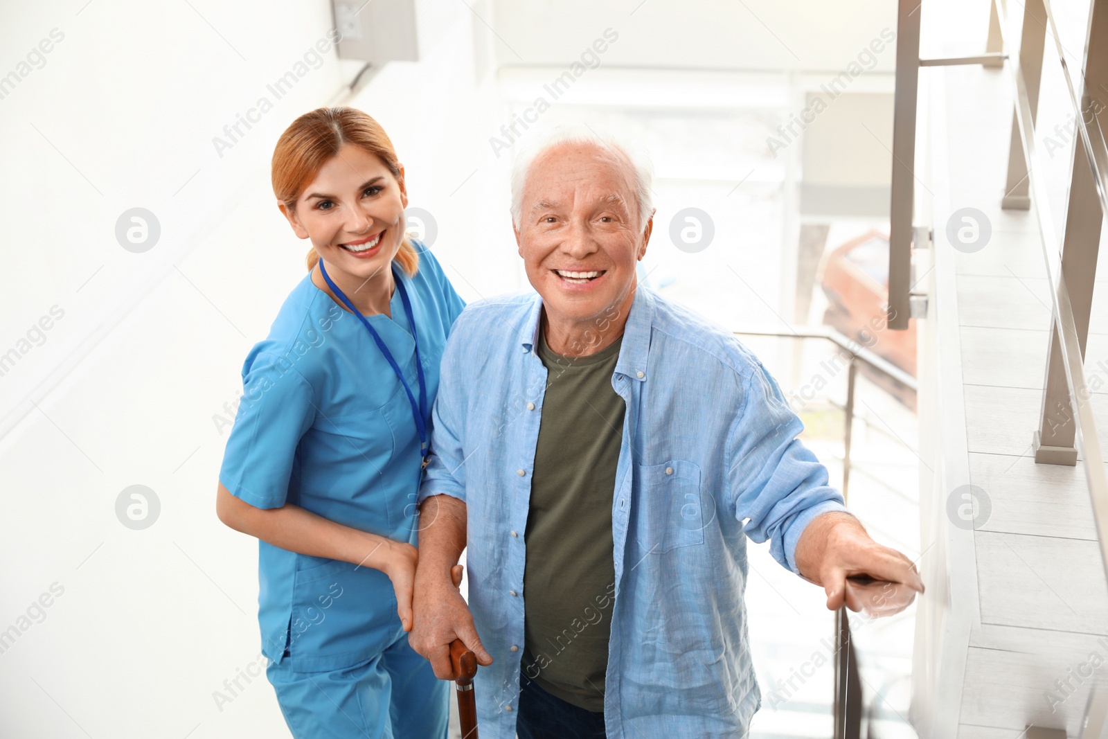
{"type": "MultiPolygon", "coordinates": [[[[504,65],[564,64],[606,28],[619,34],[605,60],[618,66],[739,71],[843,69],[883,27],[886,0],[494,0],[504,65]]],[[[874,69],[895,69],[883,55],[874,69]]]]}

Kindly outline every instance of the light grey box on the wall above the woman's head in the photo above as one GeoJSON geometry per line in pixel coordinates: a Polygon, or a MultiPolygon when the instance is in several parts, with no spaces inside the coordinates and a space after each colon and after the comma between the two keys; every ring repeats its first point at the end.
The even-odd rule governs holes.
{"type": "Polygon", "coordinates": [[[386,62],[419,61],[417,0],[331,0],[339,39],[339,59],[357,59],[375,66],[386,62]]]}

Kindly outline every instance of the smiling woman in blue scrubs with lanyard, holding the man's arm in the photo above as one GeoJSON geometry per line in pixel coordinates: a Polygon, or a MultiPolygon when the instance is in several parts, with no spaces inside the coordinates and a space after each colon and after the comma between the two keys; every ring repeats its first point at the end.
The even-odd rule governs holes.
{"type": "Polygon", "coordinates": [[[243,365],[217,513],[259,540],[261,650],[293,735],[439,739],[448,684],[406,632],[430,409],[464,304],[406,235],[404,171],[366,113],[298,117],[271,179],[308,274],[243,365]]]}

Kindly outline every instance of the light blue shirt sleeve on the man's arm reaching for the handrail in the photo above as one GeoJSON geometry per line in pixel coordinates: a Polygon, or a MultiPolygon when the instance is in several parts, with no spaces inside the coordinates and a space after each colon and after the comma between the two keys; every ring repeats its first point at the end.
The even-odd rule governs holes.
{"type": "Polygon", "coordinates": [[[743,398],[728,434],[728,486],[739,521],[753,542],[770,540],[770,554],[794,573],[797,542],[817,516],[843,511],[828,470],[797,439],[803,423],[786,403],[760,361],[743,378],[743,398]]]}

